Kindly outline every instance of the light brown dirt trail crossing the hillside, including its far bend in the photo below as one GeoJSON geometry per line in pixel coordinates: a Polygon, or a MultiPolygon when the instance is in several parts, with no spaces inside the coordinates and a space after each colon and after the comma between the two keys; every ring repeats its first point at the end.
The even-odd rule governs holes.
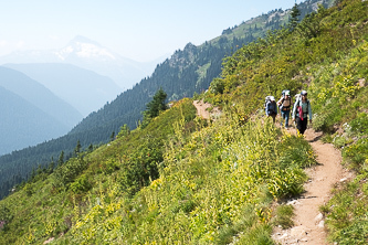
{"type": "MultiPolygon", "coordinates": [[[[194,102],[198,115],[209,119],[211,115],[206,110],[210,105],[194,102]]],[[[295,128],[290,130],[295,131],[295,128]]],[[[330,190],[337,182],[347,181],[353,173],[341,166],[341,153],[330,143],[323,143],[320,134],[313,129],[305,131],[305,138],[313,147],[318,164],[307,169],[309,177],[305,184],[306,192],[298,199],[288,201],[293,205],[295,217],[294,227],[288,230],[276,228],[273,238],[281,244],[311,244],[327,245],[324,216],[319,206],[330,199],[330,190]]]]}

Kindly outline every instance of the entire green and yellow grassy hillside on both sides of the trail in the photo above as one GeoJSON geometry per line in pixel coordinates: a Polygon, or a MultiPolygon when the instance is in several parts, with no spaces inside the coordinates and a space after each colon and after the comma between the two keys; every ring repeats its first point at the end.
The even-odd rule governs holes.
{"type": "Polygon", "coordinates": [[[215,121],[183,99],[146,128],[39,172],[0,201],[0,244],[273,244],[272,227],[291,225],[274,204],[303,192],[304,168],[316,163],[303,137],[260,110],[284,88],[309,92],[313,127],[357,171],[320,207],[329,238],[364,244],[367,12],[367,1],[340,1],[236,51],[200,95],[222,108],[215,121]]]}

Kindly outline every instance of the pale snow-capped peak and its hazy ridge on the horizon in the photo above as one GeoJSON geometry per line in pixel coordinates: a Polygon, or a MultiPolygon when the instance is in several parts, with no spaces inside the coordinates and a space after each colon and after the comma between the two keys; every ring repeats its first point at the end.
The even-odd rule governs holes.
{"type": "MultiPolygon", "coordinates": [[[[160,60],[161,61],[161,60],[160,60]]],[[[0,64],[63,63],[111,77],[123,90],[133,87],[154,71],[158,61],[136,62],[83,36],[60,50],[19,51],[0,57],[0,64]]]]}

